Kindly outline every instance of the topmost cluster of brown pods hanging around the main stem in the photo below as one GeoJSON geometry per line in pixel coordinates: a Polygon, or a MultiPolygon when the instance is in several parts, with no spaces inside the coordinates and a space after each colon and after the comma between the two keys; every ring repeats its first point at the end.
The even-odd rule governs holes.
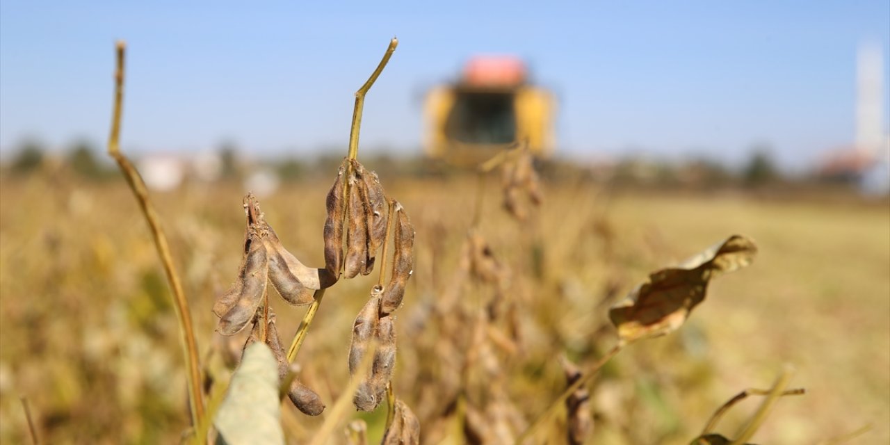
{"type": "Polygon", "coordinates": [[[368,275],[386,237],[387,200],[379,178],[359,161],[345,159],[328,192],[327,205],[326,271],[336,276],[342,266],[347,279],[368,275]]]}

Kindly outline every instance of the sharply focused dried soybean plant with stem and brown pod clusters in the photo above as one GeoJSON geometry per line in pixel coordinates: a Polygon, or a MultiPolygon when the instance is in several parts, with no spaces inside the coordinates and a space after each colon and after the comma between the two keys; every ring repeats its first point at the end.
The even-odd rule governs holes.
{"type": "MultiPolygon", "coordinates": [[[[379,264],[377,284],[371,288],[368,302],[360,310],[352,328],[348,365],[350,375],[358,382],[353,404],[357,409],[370,411],[387,399],[386,437],[389,439],[384,439],[384,443],[417,443],[417,417],[403,401],[395,399],[390,384],[396,356],[393,312],[401,306],[413,269],[414,227],[403,206],[386,196],[377,174],[362,166],[357,158],[365,94],[397,44],[393,38],[383,60],[356,93],[349,151],[326,198],[327,218],[322,231],[324,267],[305,266],[288,252],[265,221],[256,198],[248,194],[244,199],[247,224],[238,279],[228,292],[217,298],[214,313],[220,317],[217,331],[223,336],[235,335],[253,323],[247,344],[263,341],[269,345],[279,361],[279,376],[285,381],[291,374],[290,364],[312,324],[325,289],[341,277],[352,279],[368,275],[379,264]],[[392,272],[384,284],[391,238],[392,272]],[[275,317],[268,303],[269,281],[287,303],[311,304],[287,353],[281,347],[275,317]],[[368,354],[372,361],[365,373],[361,363],[368,354]]],[[[325,408],[318,394],[296,379],[291,380],[287,395],[297,409],[307,415],[318,416],[325,408]]],[[[326,434],[329,428],[323,430],[326,434]]],[[[324,439],[316,437],[315,441],[324,439]]]]}

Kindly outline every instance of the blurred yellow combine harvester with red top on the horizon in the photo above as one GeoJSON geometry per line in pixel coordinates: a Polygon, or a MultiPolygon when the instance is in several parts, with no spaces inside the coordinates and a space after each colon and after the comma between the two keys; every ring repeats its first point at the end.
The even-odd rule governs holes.
{"type": "Polygon", "coordinates": [[[538,158],[554,150],[553,95],[530,85],[522,61],[470,60],[461,79],[433,88],[424,106],[425,150],[432,158],[469,166],[516,142],[538,158]]]}

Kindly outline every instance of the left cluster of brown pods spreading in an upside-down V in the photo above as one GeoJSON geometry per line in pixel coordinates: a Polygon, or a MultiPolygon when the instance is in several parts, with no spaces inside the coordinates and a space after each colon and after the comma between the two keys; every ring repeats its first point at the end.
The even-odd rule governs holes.
{"type": "Polygon", "coordinates": [[[287,251],[266,223],[253,194],[244,198],[244,208],[247,228],[238,279],[216,299],[213,309],[220,318],[216,330],[223,336],[235,335],[247,327],[263,303],[269,281],[287,303],[294,305],[312,303],[315,290],[336,281],[327,271],[305,266],[287,251]]]}

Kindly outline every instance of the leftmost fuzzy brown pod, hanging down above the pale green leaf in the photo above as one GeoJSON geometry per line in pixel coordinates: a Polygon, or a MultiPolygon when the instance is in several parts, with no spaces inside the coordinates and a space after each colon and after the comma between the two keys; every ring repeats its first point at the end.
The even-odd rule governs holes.
{"type": "MultiPolygon", "coordinates": [[[[220,318],[216,330],[223,336],[233,336],[244,329],[253,318],[256,308],[263,303],[268,282],[269,257],[263,246],[263,234],[251,227],[250,251],[239,273],[238,299],[220,318]]],[[[217,308],[214,307],[214,312],[217,308]]]]}

